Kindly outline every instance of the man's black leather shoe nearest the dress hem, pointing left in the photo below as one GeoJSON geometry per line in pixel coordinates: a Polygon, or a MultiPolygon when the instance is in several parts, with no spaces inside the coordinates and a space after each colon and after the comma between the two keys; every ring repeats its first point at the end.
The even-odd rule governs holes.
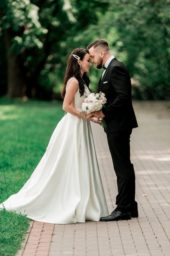
{"type": "Polygon", "coordinates": [[[110,215],[100,218],[100,221],[114,221],[114,220],[130,220],[130,212],[122,212],[114,210],[110,215]]]}

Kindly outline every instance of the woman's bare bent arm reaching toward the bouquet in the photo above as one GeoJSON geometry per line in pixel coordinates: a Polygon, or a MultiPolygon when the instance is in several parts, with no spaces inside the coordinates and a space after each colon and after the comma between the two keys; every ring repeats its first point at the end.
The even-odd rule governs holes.
{"type": "Polygon", "coordinates": [[[75,115],[76,117],[82,117],[86,119],[91,118],[93,116],[93,113],[87,115],[83,113],[80,114],[80,112],[73,106],[72,102],[74,100],[74,96],[77,90],[79,90],[79,83],[77,79],[72,79],[67,85],[62,109],[70,113],[71,115],[75,115]]]}

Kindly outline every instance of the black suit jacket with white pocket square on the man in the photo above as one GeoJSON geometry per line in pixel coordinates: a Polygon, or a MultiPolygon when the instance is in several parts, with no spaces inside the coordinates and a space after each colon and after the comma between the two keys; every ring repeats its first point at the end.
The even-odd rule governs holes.
{"type": "Polygon", "coordinates": [[[132,107],[131,81],[125,65],[114,58],[99,81],[99,91],[104,92],[107,102],[102,109],[106,133],[137,127],[132,107]]]}

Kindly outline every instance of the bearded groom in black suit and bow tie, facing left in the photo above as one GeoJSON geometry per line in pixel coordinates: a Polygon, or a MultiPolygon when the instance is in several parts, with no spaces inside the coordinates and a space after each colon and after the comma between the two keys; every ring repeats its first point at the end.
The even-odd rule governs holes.
{"type": "Polygon", "coordinates": [[[135,171],[130,162],[130,135],[136,128],[137,120],[132,107],[130,75],[123,63],[110,52],[108,42],[95,40],[87,47],[91,62],[98,69],[104,68],[99,81],[99,91],[106,95],[105,108],[94,116],[106,122],[108,146],[117,176],[118,194],[116,209],[100,221],[130,220],[138,217],[135,201],[135,171]]]}

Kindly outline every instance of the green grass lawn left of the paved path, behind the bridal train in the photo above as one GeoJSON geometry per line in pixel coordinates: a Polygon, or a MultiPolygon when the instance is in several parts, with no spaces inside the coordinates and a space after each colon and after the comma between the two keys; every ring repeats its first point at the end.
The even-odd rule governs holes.
{"type": "MultiPolygon", "coordinates": [[[[0,203],[17,193],[31,176],[58,121],[61,102],[0,99],[0,203]]],[[[29,227],[29,219],[0,210],[0,256],[15,256],[29,227]]]]}

